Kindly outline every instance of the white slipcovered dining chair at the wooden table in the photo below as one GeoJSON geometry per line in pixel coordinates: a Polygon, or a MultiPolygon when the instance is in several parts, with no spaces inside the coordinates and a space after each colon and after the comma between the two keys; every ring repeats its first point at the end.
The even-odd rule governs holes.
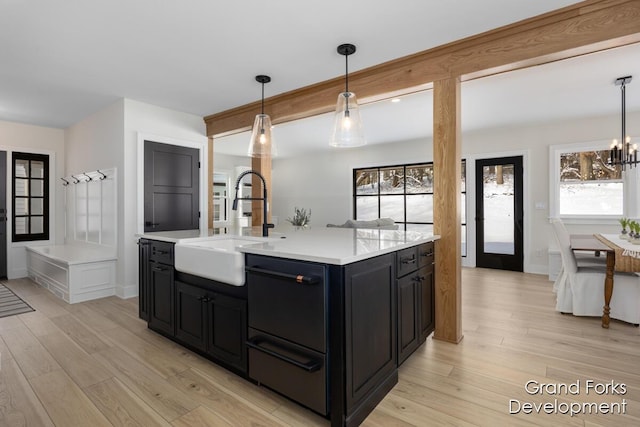
{"type": "MultiPolygon", "coordinates": [[[[576,316],[602,316],[604,307],[605,269],[580,266],[571,250],[569,235],[563,232],[562,223],[552,221],[562,257],[565,281],[559,283],[556,310],[576,316]]],[[[635,273],[616,272],[613,279],[613,296],[610,317],[632,324],[640,324],[640,276],[635,273]]]]}

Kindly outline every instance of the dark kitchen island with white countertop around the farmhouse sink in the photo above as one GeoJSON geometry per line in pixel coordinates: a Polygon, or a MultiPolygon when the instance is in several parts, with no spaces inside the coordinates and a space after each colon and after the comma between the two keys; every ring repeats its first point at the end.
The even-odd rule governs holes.
{"type": "Polygon", "coordinates": [[[437,236],[278,229],[237,248],[244,253],[242,286],[173,268],[181,244],[222,238],[142,235],[141,317],[333,426],[359,425],[433,331],[437,236]]]}

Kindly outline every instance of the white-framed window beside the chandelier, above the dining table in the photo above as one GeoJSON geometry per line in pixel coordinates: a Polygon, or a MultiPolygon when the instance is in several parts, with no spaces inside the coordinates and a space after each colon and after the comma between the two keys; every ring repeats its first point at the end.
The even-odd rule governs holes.
{"type": "Polygon", "coordinates": [[[609,166],[609,150],[601,144],[553,147],[551,216],[606,218],[624,215],[624,179],[619,166],[609,166]]]}

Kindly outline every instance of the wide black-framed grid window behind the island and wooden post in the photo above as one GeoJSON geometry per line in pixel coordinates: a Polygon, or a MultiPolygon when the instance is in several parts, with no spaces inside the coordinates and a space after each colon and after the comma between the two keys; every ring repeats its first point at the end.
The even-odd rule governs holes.
{"type": "MultiPolygon", "coordinates": [[[[462,161],[462,254],[466,255],[466,165],[462,161]]],[[[392,218],[408,231],[433,232],[433,163],[353,170],[354,218],[392,218]]]]}

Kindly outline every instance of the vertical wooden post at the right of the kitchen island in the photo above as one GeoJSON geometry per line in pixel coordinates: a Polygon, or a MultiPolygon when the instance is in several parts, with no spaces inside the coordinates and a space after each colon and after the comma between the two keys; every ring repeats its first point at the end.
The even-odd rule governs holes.
{"type": "Polygon", "coordinates": [[[433,83],[433,223],[436,246],[435,339],[458,343],[461,324],[460,78],[433,83]]]}

